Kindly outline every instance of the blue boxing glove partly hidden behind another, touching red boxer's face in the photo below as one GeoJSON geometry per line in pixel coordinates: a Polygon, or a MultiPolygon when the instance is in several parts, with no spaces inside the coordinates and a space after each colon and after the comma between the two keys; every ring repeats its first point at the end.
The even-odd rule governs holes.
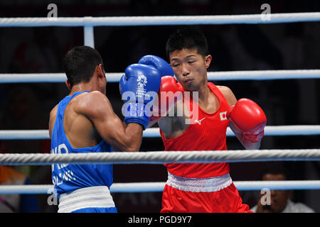
{"type": "Polygon", "coordinates": [[[174,70],[172,70],[168,62],[163,60],[161,57],[157,57],[155,55],[145,55],[144,57],[140,58],[138,63],[143,65],[152,65],[160,71],[162,77],[174,77],[174,70]]]}

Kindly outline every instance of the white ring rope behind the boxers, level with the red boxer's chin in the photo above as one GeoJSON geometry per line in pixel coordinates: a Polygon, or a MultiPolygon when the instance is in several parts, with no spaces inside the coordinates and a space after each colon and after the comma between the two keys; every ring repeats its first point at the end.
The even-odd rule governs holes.
{"type": "MultiPolygon", "coordinates": [[[[122,72],[107,73],[108,82],[119,82],[122,72]]],[[[209,81],[222,80],[270,80],[270,79],[319,79],[320,70],[247,70],[208,72],[209,81]]],[[[64,73],[3,73],[0,83],[63,83],[64,73]]]]}

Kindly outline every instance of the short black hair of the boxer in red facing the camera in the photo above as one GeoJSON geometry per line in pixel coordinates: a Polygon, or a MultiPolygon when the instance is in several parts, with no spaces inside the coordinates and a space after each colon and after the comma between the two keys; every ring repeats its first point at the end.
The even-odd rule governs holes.
{"type": "Polygon", "coordinates": [[[199,55],[206,56],[209,54],[208,42],[206,36],[200,30],[193,28],[179,28],[166,42],[166,55],[176,50],[197,50],[199,55]]]}

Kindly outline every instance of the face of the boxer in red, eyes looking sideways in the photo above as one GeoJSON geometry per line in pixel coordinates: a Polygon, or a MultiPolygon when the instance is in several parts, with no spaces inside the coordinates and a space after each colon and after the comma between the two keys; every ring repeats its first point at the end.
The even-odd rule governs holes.
{"type": "Polygon", "coordinates": [[[206,81],[211,59],[211,55],[203,57],[197,50],[182,49],[171,52],[170,65],[183,88],[193,92],[201,89],[206,81]]]}

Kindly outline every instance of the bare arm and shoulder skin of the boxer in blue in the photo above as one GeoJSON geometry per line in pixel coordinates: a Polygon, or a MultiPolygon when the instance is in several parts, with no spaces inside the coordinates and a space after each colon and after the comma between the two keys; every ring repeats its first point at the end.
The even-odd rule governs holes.
{"type": "MultiPolygon", "coordinates": [[[[77,97],[76,97],[77,98],[77,97]]],[[[81,99],[75,98],[73,103],[73,114],[76,117],[83,116],[82,123],[90,123],[87,127],[87,137],[91,134],[92,140],[94,132],[101,136],[103,140],[112,145],[114,150],[137,151],[142,143],[142,126],[137,123],[124,124],[117,114],[114,113],[112,105],[107,97],[100,92],[90,92],[81,95],[81,99]]],[[[80,98],[80,97],[78,97],[80,98]]],[[[70,103],[71,104],[71,103],[70,103]]],[[[70,105],[68,104],[68,106],[70,105]]],[[[50,112],[49,135],[51,137],[58,105],[50,112]]],[[[69,113],[70,114],[70,113],[69,113]]],[[[82,128],[85,128],[82,126],[82,128]]],[[[81,133],[81,132],[80,132],[81,133]]],[[[72,135],[67,137],[72,138],[72,135]]],[[[88,144],[87,146],[90,146],[88,144]]]]}

